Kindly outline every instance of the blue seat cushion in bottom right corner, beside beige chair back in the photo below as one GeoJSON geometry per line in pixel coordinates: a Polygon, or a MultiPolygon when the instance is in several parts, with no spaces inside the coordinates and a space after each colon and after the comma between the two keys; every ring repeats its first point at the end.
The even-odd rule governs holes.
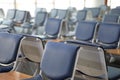
{"type": "Polygon", "coordinates": [[[120,69],[115,67],[108,67],[109,80],[117,80],[120,78],[120,69]]]}

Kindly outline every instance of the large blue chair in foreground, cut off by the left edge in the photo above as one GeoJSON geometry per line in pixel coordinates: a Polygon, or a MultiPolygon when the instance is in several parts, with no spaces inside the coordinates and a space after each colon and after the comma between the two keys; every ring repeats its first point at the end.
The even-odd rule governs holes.
{"type": "Polygon", "coordinates": [[[13,69],[22,35],[0,33],[0,72],[13,69]]]}

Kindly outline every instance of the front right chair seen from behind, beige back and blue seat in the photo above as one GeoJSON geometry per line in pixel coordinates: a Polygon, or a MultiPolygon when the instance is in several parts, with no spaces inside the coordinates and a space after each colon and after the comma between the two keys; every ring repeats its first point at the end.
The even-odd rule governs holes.
{"type": "Polygon", "coordinates": [[[99,45],[80,47],[76,70],[82,80],[118,80],[120,69],[106,65],[104,49],[99,45]]]}

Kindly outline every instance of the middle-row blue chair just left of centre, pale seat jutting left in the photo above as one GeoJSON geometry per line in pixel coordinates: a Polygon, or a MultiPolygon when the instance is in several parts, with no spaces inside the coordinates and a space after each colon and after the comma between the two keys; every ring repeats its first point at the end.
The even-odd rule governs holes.
{"type": "Polygon", "coordinates": [[[62,27],[61,19],[48,18],[45,25],[44,35],[36,35],[36,36],[42,38],[43,40],[56,39],[60,36],[61,27],[62,27]]]}

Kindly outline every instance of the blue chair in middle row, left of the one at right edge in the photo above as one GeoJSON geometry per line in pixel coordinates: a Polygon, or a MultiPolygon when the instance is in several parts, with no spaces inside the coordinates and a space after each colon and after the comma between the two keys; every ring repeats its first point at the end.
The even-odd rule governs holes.
{"type": "Polygon", "coordinates": [[[67,42],[75,44],[91,43],[94,41],[97,27],[97,22],[81,21],[75,31],[75,40],[67,40],[67,42]]]}

